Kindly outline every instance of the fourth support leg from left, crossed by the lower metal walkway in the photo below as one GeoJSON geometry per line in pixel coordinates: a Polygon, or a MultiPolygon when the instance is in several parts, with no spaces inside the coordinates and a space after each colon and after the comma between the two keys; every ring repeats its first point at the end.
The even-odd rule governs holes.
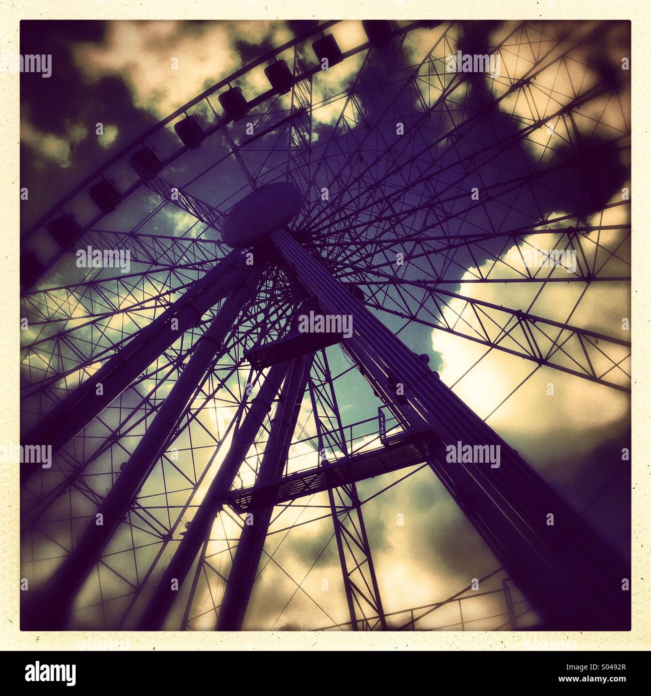
{"type": "MultiPolygon", "coordinates": [[[[308,356],[295,358],[291,363],[281,402],[274,413],[265,454],[262,455],[259,482],[272,480],[283,473],[301,400],[307,386],[310,365],[311,358],[308,356]]],[[[245,524],[242,529],[217,617],[218,631],[240,631],[242,628],[273,511],[274,507],[271,506],[254,512],[253,524],[245,524]]]]}

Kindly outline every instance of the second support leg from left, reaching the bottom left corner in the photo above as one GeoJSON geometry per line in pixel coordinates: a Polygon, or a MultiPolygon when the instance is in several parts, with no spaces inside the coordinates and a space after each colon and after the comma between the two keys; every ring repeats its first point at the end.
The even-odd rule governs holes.
{"type": "Polygon", "coordinates": [[[185,369],[104,498],[97,515],[88,523],[81,539],[56,570],[47,587],[36,594],[22,593],[25,598],[21,611],[22,628],[65,628],[74,598],[100,559],[104,546],[136,500],[197,384],[214,357],[223,352],[222,341],[244,303],[255,293],[261,273],[261,268],[253,270],[252,267],[248,280],[233,288],[223,301],[210,328],[198,340],[185,369]]]}

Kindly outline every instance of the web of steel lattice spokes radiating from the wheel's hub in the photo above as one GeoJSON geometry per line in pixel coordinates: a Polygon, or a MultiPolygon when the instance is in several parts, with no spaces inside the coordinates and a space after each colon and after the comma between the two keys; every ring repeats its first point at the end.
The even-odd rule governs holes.
{"type": "MultiPolygon", "coordinates": [[[[29,320],[22,332],[24,432],[217,272],[230,253],[221,242],[223,216],[251,182],[285,179],[306,191],[292,234],[338,280],[362,290],[366,306],[395,333],[435,330],[436,348],[437,333],[445,332],[475,342],[478,363],[503,351],[528,364],[506,393],[538,370],[629,391],[630,344],[620,321],[630,280],[629,197],[622,195],[630,189],[628,95],[612,66],[590,58],[595,45],[618,36],[597,23],[422,29],[401,22],[393,29],[391,47],[374,49],[362,36],[324,72],[311,41],[292,42],[276,56],[295,77],[289,93],[269,92],[256,65],[200,95],[185,113],[207,123],[196,152],[210,148],[210,161],[177,141],[162,173],[141,182],[128,173],[126,157],[118,158],[102,171],[123,184],[115,212],[97,215],[85,189],[72,192],[60,208],[85,221],[84,235],[53,254],[21,301],[29,320]],[[459,51],[499,57],[499,74],[449,72],[448,56],[459,51]],[[235,122],[214,104],[229,82],[252,105],[235,122]],[[130,272],[74,267],[74,252],[86,246],[128,249],[130,272]],[[544,264],[551,250],[565,252],[572,268],[544,264]]],[[[170,142],[174,120],[149,140],[170,142]]],[[[25,244],[38,234],[38,225],[28,230],[25,244]]],[[[22,574],[31,583],[45,583],[77,544],[220,306],[81,424],[52,468],[24,484],[22,574]]],[[[292,280],[271,260],[77,596],[74,628],[138,624],[269,372],[254,369],[244,353],[288,335],[297,306],[292,280]]],[[[359,375],[339,347],[316,351],[310,365],[283,476],[382,445],[377,419],[356,418],[354,407],[356,399],[376,399],[368,386],[363,397],[354,391],[359,375]]],[[[255,487],[278,404],[276,395],[232,491],[255,487]]],[[[389,438],[402,432],[397,422],[388,428],[389,438]]],[[[382,572],[374,567],[377,524],[369,519],[382,514],[378,501],[388,491],[425,479],[440,488],[423,459],[276,505],[251,597],[257,609],[245,625],[519,625],[528,604],[494,559],[460,583],[480,578],[479,594],[437,590],[414,609],[400,597],[381,599],[391,583],[386,563],[382,572]]],[[[223,505],[167,628],[214,627],[246,514],[223,505]]]]}

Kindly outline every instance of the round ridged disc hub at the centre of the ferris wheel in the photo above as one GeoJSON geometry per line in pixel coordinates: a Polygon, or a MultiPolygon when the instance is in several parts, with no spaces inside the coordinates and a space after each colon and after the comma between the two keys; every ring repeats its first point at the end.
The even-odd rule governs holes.
{"type": "Polygon", "coordinates": [[[223,241],[233,248],[253,246],[288,225],[301,211],[304,195],[291,182],[274,182],[251,191],[230,209],[223,241]]]}

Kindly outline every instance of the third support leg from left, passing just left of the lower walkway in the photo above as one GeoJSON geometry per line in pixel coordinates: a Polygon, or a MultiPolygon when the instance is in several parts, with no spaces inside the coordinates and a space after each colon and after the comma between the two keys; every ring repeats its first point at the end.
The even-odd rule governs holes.
{"type": "Polygon", "coordinates": [[[287,370],[287,363],[274,365],[269,370],[265,381],[262,382],[258,394],[251,402],[249,412],[242,420],[242,425],[233,434],[233,443],[230,445],[228,454],[219,466],[217,474],[210,483],[210,488],[201,501],[201,506],[197,509],[170,564],[152,594],[138,624],[140,631],[158,631],[164,624],[168,612],[179,594],[172,590],[172,581],[177,580],[180,590],[196,560],[201,544],[210,535],[214,519],[233,485],[237,471],[240,470],[247,452],[256,440],[260,427],[265,422],[267,413],[272,408],[272,403],[279,393],[287,370]]]}

